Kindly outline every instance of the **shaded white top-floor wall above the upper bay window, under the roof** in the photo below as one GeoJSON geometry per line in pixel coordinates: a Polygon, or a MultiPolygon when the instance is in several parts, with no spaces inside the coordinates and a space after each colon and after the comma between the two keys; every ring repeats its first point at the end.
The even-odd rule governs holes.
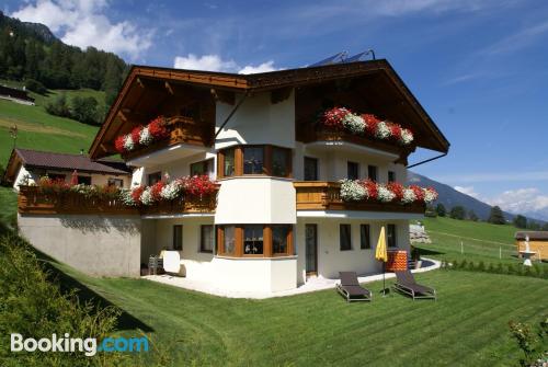
{"type": "MultiPolygon", "coordinates": [[[[242,95],[238,95],[238,100],[242,95]]],[[[233,105],[217,103],[217,128],[233,110],[233,105]]],[[[215,149],[239,144],[272,144],[295,147],[295,96],[279,103],[271,103],[271,93],[248,96],[219,133],[215,149]]]]}

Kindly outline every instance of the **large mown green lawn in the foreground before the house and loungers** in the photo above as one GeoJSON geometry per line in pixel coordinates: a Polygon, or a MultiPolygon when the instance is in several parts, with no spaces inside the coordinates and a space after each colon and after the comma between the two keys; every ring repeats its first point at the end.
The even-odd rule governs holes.
{"type": "MultiPolygon", "coordinates": [[[[57,265],[59,266],[59,265],[57,265]]],[[[144,279],[91,278],[61,268],[126,313],[126,336],[148,329],[155,351],[128,364],[213,366],[515,366],[507,322],[540,321],[548,282],[434,271],[418,276],[438,300],[378,296],[346,303],[334,290],[267,300],[227,299],[144,279]]]]}

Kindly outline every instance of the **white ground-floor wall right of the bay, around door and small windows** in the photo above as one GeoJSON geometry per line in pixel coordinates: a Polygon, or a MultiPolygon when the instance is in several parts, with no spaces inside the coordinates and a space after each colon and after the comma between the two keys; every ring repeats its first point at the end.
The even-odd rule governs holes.
{"type": "Polygon", "coordinates": [[[381,271],[381,264],[375,260],[375,248],[380,234],[380,227],[388,223],[396,225],[397,248],[409,251],[409,221],[390,220],[374,221],[367,219],[326,219],[326,218],[298,218],[296,226],[296,252],[298,255],[297,276],[298,283],[305,282],[306,243],[305,225],[318,225],[318,275],[326,278],[339,278],[339,272],[349,271],[357,274],[370,274],[381,271]],[[352,226],[352,250],[340,250],[339,226],[352,226]],[[359,225],[370,226],[372,249],[362,250],[359,239],[359,225]]]}

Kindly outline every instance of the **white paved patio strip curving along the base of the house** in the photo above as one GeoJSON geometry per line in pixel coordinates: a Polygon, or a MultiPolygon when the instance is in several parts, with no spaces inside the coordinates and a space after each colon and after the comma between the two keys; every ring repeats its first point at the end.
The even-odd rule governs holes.
{"type": "MultiPolygon", "coordinates": [[[[412,273],[424,273],[436,268],[439,268],[441,262],[432,259],[423,257],[422,267],[413,269],[412,273]]],[[[395,278],[393,273],[386,273],[386,279],[395,278]]],[[[165,285],[180,287],[190,290],[196,290],[205,293],[213,296],[227,297],[227,298],[250,298],[250,299],[266,299],[274,297],[285,297],[293,295],[300,295],[317,290],[334,288],[339,283],[339,279],[329,279],[324,277],[311,277],[305,284],[298,286],[295,289],[275,291],[275,293],[259,293],[259,291],[232,291],[213,285],[212,283],[191,280],[185,277],[173,276],[169,274],[162,275],[146,275],[142,276],[144,279],[151,282],[158,282],[165,285]]],[[[359,283],[372,283],[376,280],[383,280],[383,274],[363,274],[358,277],[359,283]]]]}

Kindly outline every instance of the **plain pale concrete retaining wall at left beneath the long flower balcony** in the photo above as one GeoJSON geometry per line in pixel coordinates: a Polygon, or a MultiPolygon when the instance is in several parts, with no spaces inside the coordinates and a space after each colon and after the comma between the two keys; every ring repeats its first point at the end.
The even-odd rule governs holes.
{"type": "Polygon", "coordinates": [[[95,276],[139,276],[140,218],[20,215],[21,234],[36,249],[95,276]]]}

